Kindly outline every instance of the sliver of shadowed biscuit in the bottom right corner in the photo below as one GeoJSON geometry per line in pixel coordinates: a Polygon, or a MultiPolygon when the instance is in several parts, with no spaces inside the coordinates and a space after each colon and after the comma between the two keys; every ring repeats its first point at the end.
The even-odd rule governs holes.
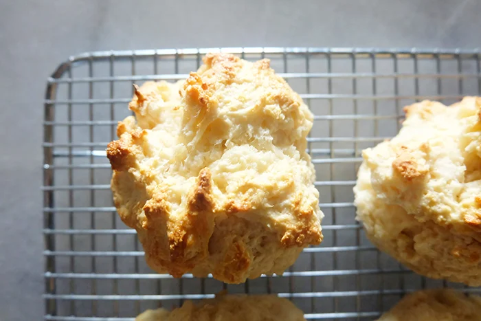
{"type": "Polygon", "coordinates": [[[378,321],[481,321],[481,297],[452,289],[417,291],[378,321]]]}

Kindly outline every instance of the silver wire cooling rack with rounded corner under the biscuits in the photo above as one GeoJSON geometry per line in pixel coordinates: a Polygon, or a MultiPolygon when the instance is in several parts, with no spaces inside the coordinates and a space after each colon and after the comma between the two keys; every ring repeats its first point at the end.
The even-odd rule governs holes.
{"type": "MultiPolygon", "coordinates": [[[[406,104],[450,104],[481,93],[480,54],[460,50],[213,48],[93,52],[72,56],[48,78],[45,100],[45,320],[133,320],[216,292],[274,293],[313,320],[373,320],[407,291],[458,287],[413,274],[378,252],[355,222],[361,150],[392,137],[406,104]],[[112,204],[105,148],[130,114],[132,84],[186,78],[208,52],[271,66],[315,114],[308,138],[320,190],[324,241],[284,276],[225,285],[155,274],[134,230],[112,204]]],[[[466,289],[465,291],[480,291],[466,289]]]]}

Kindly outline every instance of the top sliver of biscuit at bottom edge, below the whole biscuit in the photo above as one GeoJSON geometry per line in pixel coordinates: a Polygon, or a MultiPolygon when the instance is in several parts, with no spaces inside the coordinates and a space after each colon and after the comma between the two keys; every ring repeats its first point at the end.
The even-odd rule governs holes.
{"type": "Polygon", "coordinates": [[[218,294],[198,305],[188,300],[182,307],[147,310],[135,321],[304,321],[293,303],[274,295],[246,296],[218,294]]]}

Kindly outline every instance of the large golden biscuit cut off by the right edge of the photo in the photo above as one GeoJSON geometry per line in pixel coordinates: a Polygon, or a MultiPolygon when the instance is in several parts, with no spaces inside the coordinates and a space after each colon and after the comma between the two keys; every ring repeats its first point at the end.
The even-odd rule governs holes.
{"type": "Polygon", "coordinates": [[[363,151],[357,219],[424,276],[481,285],[481,98],[405,107],[403,128],[363,151]]]}

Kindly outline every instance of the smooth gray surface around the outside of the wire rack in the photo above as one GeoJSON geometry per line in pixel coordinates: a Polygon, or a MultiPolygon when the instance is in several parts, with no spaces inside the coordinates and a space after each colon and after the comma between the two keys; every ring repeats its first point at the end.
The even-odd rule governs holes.
{"type": "Polygon", "coordinates": [[[227,3],[0,2],[0,320],[43,315],[42,101],[45,79],[69,55],[172,47],[481,43],[481,3],[474,0],[227,3]]]}

